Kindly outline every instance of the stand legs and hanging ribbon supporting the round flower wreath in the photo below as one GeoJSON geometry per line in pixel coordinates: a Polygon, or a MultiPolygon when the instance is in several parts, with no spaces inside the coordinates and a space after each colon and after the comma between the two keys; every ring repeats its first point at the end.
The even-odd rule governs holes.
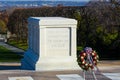
{"type": "MultiPolygon", "coordinates": [[[[100,72],[100,71],[99,71],[98,67],[93,63],[92,56],[89,53],[87,53],[87,60],[86,61],[93,65],[93,69],[89,70],[92,73],[92,76],[93,76],[92,80],[97,80],[95,72],[100,72]]],[[[83,78],[84,78],[84,80],[86,80],[86,73],[87,72],[88,71],[83,70],[83,78]]]]}

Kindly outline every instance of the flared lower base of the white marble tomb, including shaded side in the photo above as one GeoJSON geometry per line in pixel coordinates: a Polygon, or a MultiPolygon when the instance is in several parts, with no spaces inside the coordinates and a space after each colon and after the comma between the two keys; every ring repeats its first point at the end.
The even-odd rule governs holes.
{"type": "Polygon", "coordinates": [[[21,68],[35,71],[79,70],[76,58],[73,57],[41,57],[28,50],[22,59],[21,68]]]}

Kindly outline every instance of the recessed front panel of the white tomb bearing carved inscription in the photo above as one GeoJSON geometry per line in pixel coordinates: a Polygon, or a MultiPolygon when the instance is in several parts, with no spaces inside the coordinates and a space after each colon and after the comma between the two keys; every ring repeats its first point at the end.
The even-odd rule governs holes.
{"type": "Polygon", "coordinates": [[[53,55],[69,55],[70,29],[46,28],[46,48],[53,55]]]}

